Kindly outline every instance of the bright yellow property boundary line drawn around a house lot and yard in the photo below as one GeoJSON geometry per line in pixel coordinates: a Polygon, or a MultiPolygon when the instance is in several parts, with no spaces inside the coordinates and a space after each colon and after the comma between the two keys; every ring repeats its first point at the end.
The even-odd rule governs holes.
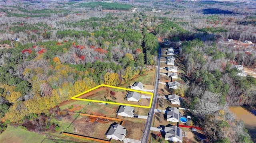
{"type": "Polygon", "coordinates": [[[82,101],[89,101],[89,102],[98,102],[98,103],[108,103],[108,104],[115,104],[115,105],[124,105],[124,106],[132,106],[132,107],[140,107],[140,108],[150,108],[151,104],[152,104],[152,100],[153,100],[153,93],[150,92],[144,92],[144,91],[140,91],[140,90],[134,90],[134,89],[128,89],[128,88],[122,88],[122,87],[116,87],[116,86],[110,86],[110,85],[106,85],[106,84],[100,84],[92,89],[86,90],[85,92],[82,92],[76,96],[71,97],[71,99],[74,100],[82,100],[82,101]],[[110,88],[116,88],[116,89],[121,89],[121,90],[128,90],[128,91],[135,91],[135,92],[139,92],[139,93],[144,93],[144,94],[150,94],[151,98],[150,98],[150,103],[149,106],[141,106],[141,105],[134,105],[134,104],[124,104],[124,103],[116,103],[116,102],[107,102],[107,101],[100,101],[100,100],[91,100],[91,99],[82,99],[82,98],[77,98],[83,94],[86,94],[94,89],[97,89],[99,87],[110,87],[110,88]]]}

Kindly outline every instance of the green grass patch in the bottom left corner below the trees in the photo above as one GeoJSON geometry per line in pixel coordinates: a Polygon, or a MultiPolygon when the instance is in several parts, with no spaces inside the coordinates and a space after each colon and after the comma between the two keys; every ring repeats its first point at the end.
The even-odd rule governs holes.
{"type": "Polygon", "coordinates": [[[44,138],[44,135],[26,131],[20,127],[8,126],[0,135],[0,143],[41,143],[44,138]]]}

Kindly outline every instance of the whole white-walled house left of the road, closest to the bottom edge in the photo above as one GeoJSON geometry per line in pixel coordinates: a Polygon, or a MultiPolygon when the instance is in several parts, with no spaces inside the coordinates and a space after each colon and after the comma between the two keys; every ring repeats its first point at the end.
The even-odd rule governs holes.
{"type": "Polygon", "coordinates": [[[126,128],[118,123],[112,123],[106,133],[107,139],[123,141],[126,135],[126,128]]]}

